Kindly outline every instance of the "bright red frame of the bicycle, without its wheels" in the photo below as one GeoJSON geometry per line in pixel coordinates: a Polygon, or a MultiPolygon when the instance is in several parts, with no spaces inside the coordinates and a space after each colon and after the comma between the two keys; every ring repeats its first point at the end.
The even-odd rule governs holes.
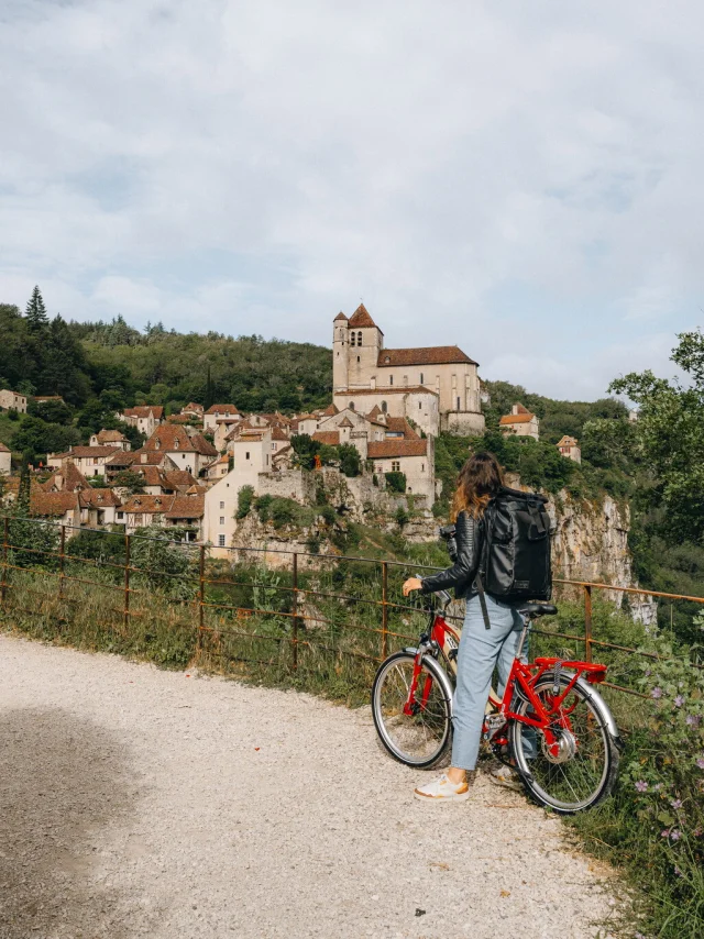
{"type": "MultiPolygon", "coordinates": [[[[450,671],[451,673],[457,671],[453,664],[452,652],[454,651],[457,653],[457,649],[460,644],[460,633],[449,626],[441,612],[433,609],[429,609],[428,612],[430,615],[429,630],[420,637],[413,678],[408,688],[408,698],[404,705],[404,714],[408,716],[414,716],[418,714],[419,710],[425,709],[430,696],[432,677],[430,675],[426,675],[424,687],[420,693],[420,700],[416,698],[418,681],[421,674],[422,659],[425,655],[431,654],[433,658],[442,655],[448,666],[446,671],[450,671]]],[[[582,677],[590,682],[590,684],[598,684],[603,682],[606,677],[606,665],[597,665],[591,662],[580,662],[576,660],[563,661],[561,659],[546,656],[538,656],[534,663],[522,662],[522,651],[529,632],[530,620],[526,618],[524,620],[524,629],[518,642],[516,658],[514,659],[514,664],[512,666],[508,681],[506,682],[504,697],[503,699],[499,699],[493,693],[490,695],[490,705],[494,711],[492,717],[496,725],[495,729],[492,732],[490,730],[490,722],[485,720],[483,732],[494,745],[504,745],[508,740],[505,734],[499,736],[499,731],[505,730],[506,725],[512,720],[520,721],[528,727],[542,731],[549,751],[557,756],[559,741],[552,731],[552,727],[557,726],[565,730],[571,729],[570,714],[574,709],[575,705],[569,707],[569,705],[565,705],[565,702],[572,692],[572,688],[582,677]],[[570,680],[565,687],[562,686],[562,682],[560,680],[560,674],[563,669],[573,673],[569,675],[570,680]],[[541,680],[550,672],[552,672],[553,675],[553,693],[546,696],[546,698],[541,698],[536,694],[535,689],[538,686],[538,683],[540,683],[541,680]],[[536,715],[535,717],[528,717],[527,715],[520,715],[512,710],[510,706],[516,693],[518,693],[519,697],[522,697],[524,700],[527,700],[530,704],[536,715]],[[496,721],[496,718],[501,719],[496,721]]]]}

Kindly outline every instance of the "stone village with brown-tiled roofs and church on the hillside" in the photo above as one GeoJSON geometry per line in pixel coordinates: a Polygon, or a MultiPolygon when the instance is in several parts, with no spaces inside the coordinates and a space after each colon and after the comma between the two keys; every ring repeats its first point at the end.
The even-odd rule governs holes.
{"type": "MultiPolygon", "coordinates": [[[[51,475],[40,482],[33,474],[30,513],[77,528],[124,527],[128,534],[152,524],[177,528],[189,541],[226,554],[237,544],[243,487],[252,487],[255,496],[301,504],[315,499],[316,474],[297,465],[292,445],[295,437],[307,434],[322,446],[350,444],[358,451],[358,476],[317,467],[328,485],[337,474],[351,510],[387,511],[394,498],[413,497],[414,508],[431,518],[438,495],[436,438],[484,431],[487,395],[477,363],[457,345],[386,349],[384,333],[363,305],[350,318],[340,312],[332,333],[332,401],[324,410],[245,415],[234,405],[204,411],[191,402],[167,417],[161,406],[125,408],[116,417],[143,433],[145,443],[133,451],[119,430],[101,430],[86,446],[47,454],[51,475]],[[124,471],[136,474],[142,491],[131,495],[120,486],[124,471]]],[[[0,409],[26,408],[26,396],[0,390],[0,409]]],[[[501,428],[539,435],[538,418],[518,402],[501,428]]],[[[557,445],[563,456],[580,461],[576,440],[564,437],[557,445]]],[[[0,442],[0,498],[11,504],[19,488],[11,452],[0,442]]]]}

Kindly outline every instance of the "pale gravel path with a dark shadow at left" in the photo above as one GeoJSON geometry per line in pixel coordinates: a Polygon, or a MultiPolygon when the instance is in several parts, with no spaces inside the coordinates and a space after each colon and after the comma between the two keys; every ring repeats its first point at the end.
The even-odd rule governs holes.
{"type": "Polygon", "coordinates": [[[0,937],[598,935],[606,871],[481,776],[425,806],[369,709],[0,636],[0,937]]]}

